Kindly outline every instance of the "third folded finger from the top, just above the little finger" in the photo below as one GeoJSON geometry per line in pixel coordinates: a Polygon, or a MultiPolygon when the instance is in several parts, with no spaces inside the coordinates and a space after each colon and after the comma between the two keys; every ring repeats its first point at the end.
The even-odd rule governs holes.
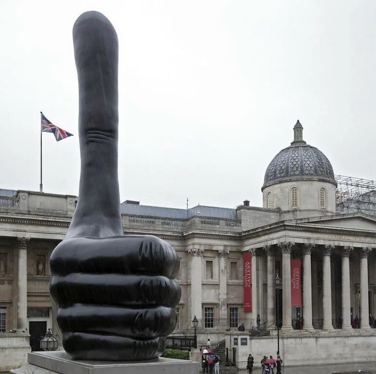
{"type": "Polygon", "coordinates": [[[75,304],[58,310],[57,323],[64,332],[146,339],[168,336],[175,328],[176,313],[174,309],[165,306],[132,309],[75,304]]]}

